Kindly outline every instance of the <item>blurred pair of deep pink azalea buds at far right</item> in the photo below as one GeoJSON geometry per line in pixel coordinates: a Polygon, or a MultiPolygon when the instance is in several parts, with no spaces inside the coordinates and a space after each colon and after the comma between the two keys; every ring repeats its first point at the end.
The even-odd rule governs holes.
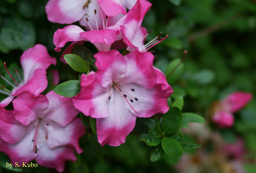
{"type": "Polygon", "coordinates": [[[217,102],[214,105],[212,121],[220,128],[233,126],[235,121],[233,113],[246,106],[252,98],[253,95],[251,93],[241,91],[229,94],[224,100],[217,102]]]}

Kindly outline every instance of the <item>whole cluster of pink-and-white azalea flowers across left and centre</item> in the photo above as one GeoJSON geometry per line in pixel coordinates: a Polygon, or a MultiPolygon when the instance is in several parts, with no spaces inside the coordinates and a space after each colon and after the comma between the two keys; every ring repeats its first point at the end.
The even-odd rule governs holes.
{"type": "MultiPolygon", "coordinates": [[[[54,33],[56,51],[73,42],[61,60],[68,63],[64,55],[72,53],[76,44],[89,41],[99,50],[93,62],[97,70],[87,68],[80,77],[80,92],[69,98],[45,91],[46,69],[55,65],[56,59],[50,57],[44,46],[37,44],[22,54],[23,80],[16,71],[20,82],[5,65],[16,85],[1,75],[13,89],[2,86],[0,90],[8,95],[0,103],[0,151],[12,163],[35,159],[42,166],[63,171],[65,161],[76,160],[74,150],[82,152],[78,142],[86,127],[76,117],[79,111],[96,119],[97,137],[102,146],[119,146],[135,127],[136,117],[148,118],[169,110],[167,98],[173,93],[172,87],[153,66],[155,56],[147,52],[168,35],[162,38],[159,33],[144,45],[152,31],[147,32],[141,25],[150,7],[146,0],[50,0],[47,3],[45,9],[51,22],[79,21],[86,29],[68,25],[54,33]],[[111,47],[126,48],[126,54],[110,50],[111,47]],[[41,94],[43,91],[46,95],[41,94]],[[4,107],[11,102],[13,110],[6,110],[4,107]]],[[[58,72],[52,73],[57,84],[58,72]]]]}

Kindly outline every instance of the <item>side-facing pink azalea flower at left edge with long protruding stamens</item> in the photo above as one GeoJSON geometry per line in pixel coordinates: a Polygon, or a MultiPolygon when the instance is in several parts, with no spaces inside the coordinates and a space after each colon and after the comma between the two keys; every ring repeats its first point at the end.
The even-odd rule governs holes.
{"type": "Polygon", "coordinates": [[[1,107],[7,106],[15,96],[24,91],[28,91],[29,93],[35,96],[38,96],[40,93],[42,93],[46,89],[48,84],[46,77],[46,69],[51,64],[56,65],[56,59],[50,57],[46,47],[41,44],[36,44],[33,48],[29,48],[28,50],[26,50],[21,55],[20,61],[24,72],[23,80],[20,78],[20,75],[18,74],[17,70],[16,72],[19,76],[19,80],[14,79],[5,65],[7,72],[10,74],[10,76],[16,83],[16,86],[0,74],[0,77],[6,82],[8,82],[10,86],[13,87],[11,91],[7,90],[4,86],[2,86],[2,88],[5,91],[0,89],[0,93],[8,95],[7,98],[1,101],[1,107]]]}

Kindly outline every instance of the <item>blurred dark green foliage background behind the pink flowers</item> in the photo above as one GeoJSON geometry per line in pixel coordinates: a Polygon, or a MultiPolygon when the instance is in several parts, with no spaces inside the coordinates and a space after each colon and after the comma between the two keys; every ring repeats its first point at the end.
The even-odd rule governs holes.
{"type": "MultiPolygon", "coordinates": [[[[147,41],[159,32],[169,35],[151,49],[157,55],[155,67],[168,74],[183,57],[183,50],[188,50],[184,63],[168,79],[174,90],[172,99],[179,96],[184,98],[183,112],[206,116],[213,101],[224,98],[232,91],[256,95],[255,0],[149,1],[153,5],[142,24],[147,30],[153,29],[147,41]]],[[[9,69],[17,68],[23,51],[34,44],[43,44],[49,54],[57,58],[56,67],[52,68],[59,70],[60,82],[78,78],[77,73],[59,60],[61,52],[53,50],[53,33],[66,25],[47,20],[44,11],[46,3],[47,0],[0,1],[1,73],[5,73],[3,61],[9,69]]],[[[79,25],[78,22],[75,24],[79,25]]],[[[3,98],[0,95],[0,100],[3,98]]],[[[247,151],[242,167],[247,173],[256,172],[255,98],[235,114],[235,125],[231,129],[216,129],[208,121],[206,125],[211,131],[220,131],[225,141],[234,142],[236,136],[242,137],[247,151]]],[[[200,144],[196,136],[187,136],[185,139],[200,144]]],[[[179,162],[178,157],[165,153],[159,161],[151,162],[151,148],[138,140],[136,129],[128,135],[125,144],[118,147],[101,147],[97,136],[90,131],[81,138],[80,145],[84,152],[77,155],[76,163],[67,163],[64,172],[179,172],[174,168],[179,162]]],[[[214,145],[214,142],[202,147],[210,145],[214,145]]],[[[188,151],[190,154],[196,152],[196,149],[188,151]]],[[[211,154],[211,147],[207,148],[207,152],[211,154]]],[[[9,171],[0,167],[0,172],[9,171]]],[[[23,168],[23,172],[56,171],[38,167],[23,168]]],[[[217,172],[228,171],[220,168],[217,172]]]]}

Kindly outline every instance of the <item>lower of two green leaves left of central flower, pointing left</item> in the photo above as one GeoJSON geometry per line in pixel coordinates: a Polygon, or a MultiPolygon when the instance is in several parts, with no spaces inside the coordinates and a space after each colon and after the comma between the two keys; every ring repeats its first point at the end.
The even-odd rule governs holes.
{"type": "Polygon", "coordinates": [[[74,97],[80,91],[80,80],[68,80],[56,86],[53,90],[64,97],[74,97]]]}

